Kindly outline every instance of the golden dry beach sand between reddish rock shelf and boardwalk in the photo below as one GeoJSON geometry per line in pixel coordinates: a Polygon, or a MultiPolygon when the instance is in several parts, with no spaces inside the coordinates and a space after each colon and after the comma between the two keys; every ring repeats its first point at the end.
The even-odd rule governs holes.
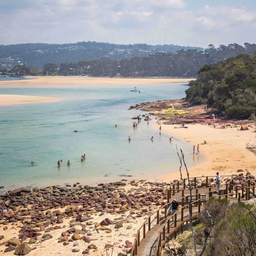
{"type": "MultiPolygon", "coordinates": [[[[175,146],[175,137],[179,137],[184,140],[184,143],[191,145],[191,155],[185,157],[192,157],[197,161],[202,154],[206,157],[205,161],[193,168],[189,169],[190,177],[199,176],[216,176],[216,172],[220,175],[232,175],[237,174],[238,169],[242,169],[244,173],[245,169],[248,169],[251,173],[255,173],[256,157],[249,150],[246,149],[246,143],[254,143],[255,138],[255,125],[250,125],[250,129],[247,131],[238,131],[240,127],[220,129],[214,128],[213,125],[188,125],[188,128],[174,129],[177,125],[161,125],[162,132],[167,132],[170,136],[173,136],[172,143],[175,146]],[[207,142],[204,143],[204,140],[207,142]],[[191,142],[187,142],[191,141],[191,142]],[[193,155],[193,145],[197,150],[199,144],[199,155],[193,155]]],[[[157,125],[159,129],[159,125],[157,125]]],[[[179,161],[178,157],[177,160],[179,161]]],[[[185,175],[185,173],[183,173],[185,175]]],[[[174,179],[180,179],[179,171],[164,175],[160,180],[170,181],[174,179]]]]}

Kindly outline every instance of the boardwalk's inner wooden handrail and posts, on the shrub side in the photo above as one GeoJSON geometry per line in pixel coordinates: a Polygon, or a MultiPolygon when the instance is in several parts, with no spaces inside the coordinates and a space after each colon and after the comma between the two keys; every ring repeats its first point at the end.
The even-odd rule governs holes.
{"type": "MultiPolygon", "coordinates": [[[[238,201],[240,201],[240,198],[241,198],[240,194],[241,193],[237,192],[236,193],[236,198],[237,198],[237,194],[238,194],[238,201]]],[[[218,198],[221,198],[221,197],[228,198],[228,196],[232,196],[232,198],[233,198],[233,195],[234,195],[234,193],[229,193],[229,194],[225,194],[225,195],[221,195],[219,193],[219,195],[216,195],[215,197],[218,197],[218,198]]],[[[194,204],[194,205],[198,204],[198,206],[197,206],[198,207],[197,214],[200,214],[201,204],[202,204],[202,201],[201,201],[201,198],[200,198],[200,194],[198,194],[198,198],[199,199],[196,200],[196,201],[193,201],[192,204],[194,204]]],[[[192,213],[192,208],[193,208],[192,204],[191,204],[191,208],[190,208],[191,215],[193,214],[192,213]]],[[[156,242],[156,256],[160,255],[160,253],[162,251],[162,248],[163,248],[164,244],[166,243],[166,240],[168,239],[168,237],[170,235],[172,235],[174,232],[176,232],[176,230],[179,228],[179,227],[177,227],[177,213],[181,211],[181,221],[183,222],[184,221],[183,220],[183,218],[184,218],[183,211],[184,211],[184,209],[187,209],[187,208],[188,208],[188,204],[182,206],[179,211],[175,212],[173,215],[168,216],[168,219],[162,225],[161,230],[159,230],[159,234],[158,234],[158,238],[157,238],[157,242],[156,242]],[[175,230],[173,230],[172,232],[170,232],[170,218],[171,217],[174,217],[174,223],[173,224],[174,224],[174,228],[175,228],[175,230]],[[166,230],[166,225],[167,225],[167,233],[165,231],[166,230]],[[162,239],[161,239],[161,237],[162,237],[162,239]]],[[[186,221],[184,221],[184,222],[186,222],[186,221]]]]}

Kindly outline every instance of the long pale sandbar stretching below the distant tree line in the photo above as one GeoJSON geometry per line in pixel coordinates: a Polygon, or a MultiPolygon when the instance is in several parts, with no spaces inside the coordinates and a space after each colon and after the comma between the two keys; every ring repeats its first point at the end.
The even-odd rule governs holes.
{"type": "Polygon", "coordinates": [[[172,83],[189,82],[192,78],[120,78],[120,77],[89,77],[89,76],[36,76],[29,80],[0,81],[0,85],[98,85],[98,84],[149,84],[149,83],[172,83]]]}

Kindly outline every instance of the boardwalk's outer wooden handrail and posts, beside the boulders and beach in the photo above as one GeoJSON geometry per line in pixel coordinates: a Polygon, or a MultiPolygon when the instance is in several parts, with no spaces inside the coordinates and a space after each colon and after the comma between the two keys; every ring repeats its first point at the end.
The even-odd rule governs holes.
{"type": "MultiPolygon", "coordinates": [[[[234,175],[235,176],[235,175],[234,175]]],[[[208,178],[212,178],[213,176],[206,176],[206,177],[192,177],[192,178],[190,178],[189,180],[192,180],[192,179],[194,179],[194,184],[196,184],[196,179],[197,178],[205,178],[206,179],[206,184],[207,184],[207,187],[206,188],[208,188],[209,189],[209,192],[204,192],[204,194],[209,194],[209,198],[212,196],[212,193],[213,193],[213,191],[212,190],[217,190],[216,189],[216,187],[208,187],[208,178]]],[[[234,194],[235,195],[235,198],[237,198],[237,196],[239,197],[238,198],[238,200],[240,201],[240,199],[241,198],[246,198],[246,200],[248,200],[248,194],[250,193],[250,189],[252,188],[252,190],[253,190],[253,194],[255,194],[255,187],[256,187],[256,182],[254,182],[254,181],[252,181],[252,180],[247,180],[247,182],[245,183],[245,184],[247,184],[248,183],[248,187],[245,187],[245,186],[238,186],[238,185],[234,185],[234,183],[233,183],[233,179],[234,179],[234,177],[233,177],[233,175],[232,176],[228,176],[228,175],[223,175],[222,177],[231,177],[231,180],[229,181],[229,183],[226,183],[226,189],[225,189],[225,195],[231,195],[231,194],[234,194]],[[253,182],[255,185],[253,185],[253,186],[251,186],[251,182],[253,182]],[[233,189],[234,189],[234,187],[235,187],[235,192],[233,192],[233,193],[231,193],[231,190],[233,191],[233,189]],[[241,195],[241,193],[240,192],[238,192],[238,188],[240,188],[241,189],[241,193],[242,193],[242,195],[241,195]],[[245,190],[245,191],[244,191],[245,190]],[[229,193],[230,194],[228,194],[228,191],[229,191],[229,193]],[[245,193],[244,193],[245,192],[245,193]]],[[[236,177],[236,176],[235,176],[236,177]]],[[[187,178],[186,179],[184,179],[184,180],[187,180],[187,178]]],[[[182,182],[183,183],[183,181],[182,180],[178,180],[178,181],[176,181],[174,184],[179,184],[180,182],[182,182]]],[[[171,186],[173,186],[174,184],[172,184],[171,186]]],[[[171,187],[170,186],[170,187],[171,187]]],[[[173,186],[174,187],[174,190],[178,190],[178,192],[179,191],[181,191],[182,192],[182,197],[181,198],[178,198],[177,200],[181,200],[182,202],[185,202],[185,199],[186,198],[188,198],[188,196],[184,196],[184,191],[188,191],[188,189],[186,189],[186,188],[184,188],[184,189],[179,189],[179,185],[177,185],[178,186],[178,189],[175,189],[175,186],[173,186]]],[[[185,187],[185,185],[184,185],[184,187],[185,187]]],[[[195,194],[193,194],[192,196],[196,196],[196,201],[198,201],[198,195],[200,194],[200,193],[198,193],[198,191],[200,191],[201,189],[205,189],[205,187],[204,188],[196,188],[196,186],[195,186],[195,188],[192,188],[192,189],[195,189],[196,190],[196,193],[195,194]]],[[[145,238],[146,237],[146,233],[148,232],[148,231],[150,231],[150,229],[151,229],[151,221],[153,222],[154,220],[153,220],[153,218],[151,219],[151,217],[156,213],[157,214],[157,216],[155,217],[156,218],[156,224],[159,224],[159,211],[160,210],[162,210],[163,208],[165,209],[164,210],[164,216],[165,216],[165,218],[166,218],[166,212],[167,212],[167,207],[171,204],[170,202],[169,202],[169,198],[170,198],[170,196],[171,196],[171,190],[172,189],[168,189],[167,190],[167,203],[166,204],[164,204],[164,205],[162,205],[160,208],[158,208],[156,211],[154,211],[152,214],[150,214],[147,218],[146,218],[146,220],[143,222],[143,224],[141,225],[141,227],[138,229],[138,231],[137,231],[137,234],[136,234],[136,237],[135,237],[135,239],[134,239],[134,244],[133,244],[133,247],[132,247],[132,250],[131,250],[131,255],[132,256],[135,256],[135,255],[137,255],[137,247],[140,245],[140,231],[143,229],[143,238],[145,238]],[[148,224],[148,231],[146,232],[146,225],[148,224]]],[[[175,193],[174,193],[175,194],[175,193]]],[[[219,190],[219,195],[218,195],[219,197],[222,197],[222,196],[224,196],[224,195],[221,195],[221,190],[219,190]]],[[[202,200],[202,198],[201,198],[201,200],[202,200]]],[[[193,204],[194,204],[194,202],[196,202],[196,201],[193,201],[193,204]]],[[[186,204],[187,204],[187,202],[188,202],[188,199],[186,199],[186,204]]]]}

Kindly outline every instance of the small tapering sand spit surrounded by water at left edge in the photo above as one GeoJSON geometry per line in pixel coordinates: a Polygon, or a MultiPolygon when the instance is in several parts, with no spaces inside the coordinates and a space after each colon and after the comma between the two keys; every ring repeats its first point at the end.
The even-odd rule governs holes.
{"type": "Polygon", "coordinates": [[[28,103],[36,103],[36,102],[51,102],[51,101],[60,101],[60,100],[61,100],[60,98],[53,98],[53,97],[0,94],[0,106],[28,104],[28,103]]]}

